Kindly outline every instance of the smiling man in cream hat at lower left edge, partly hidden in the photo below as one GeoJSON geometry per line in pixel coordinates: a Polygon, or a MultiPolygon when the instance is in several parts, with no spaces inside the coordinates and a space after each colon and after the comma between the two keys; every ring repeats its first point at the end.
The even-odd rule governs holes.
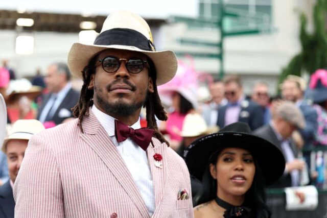
{"type": "Polygon", "coordinates": [[[36,119],[19,119],[13,124],[8,137],[4,140],[2,151],[7,155],[10,180],[0,186],[0,217],[2,218],[14,217],[15,201],[12,188],[30,138],[42,130],[44,130],[43,125],[36,119]]]}

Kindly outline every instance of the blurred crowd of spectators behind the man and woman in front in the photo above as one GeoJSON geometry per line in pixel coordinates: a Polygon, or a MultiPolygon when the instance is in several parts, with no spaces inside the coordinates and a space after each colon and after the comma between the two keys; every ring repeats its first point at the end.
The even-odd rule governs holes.
{"type": "MultiPolygon", "coordinates": [[[[20,119],[37,119],[45,129],[73,119],[72,108],[78,102],[79,91],[72,87],[71,73],[65,63],[51,64],[44,76],[37,70],[30,80],[17,78],[7,61],[3,61],[0,93],[7,105],[9,135],[20,119]]],[[[285,156],[284,176],[271,187],[315,184],[325,188],[323,152],[312,155],[302,151],[327,146],[327,70],[317,70],[309,82],[289,75],[278,87],[279,95],[272,96],[267,83],[255,82],[252,92],[246,94],[237,75],[214,80],[197,72],[192,59],[179,61],[175,78],[158,87],[168,113],[166,122],[158,121],[159,130],[170,147],[183,157],[184,150],[195,139],[235,122],[247,123],[255,135],[276,144],[285,156]]],[[[147,125],[145,117],[143,111],[143,127],[147,125]]],[[[32,128],[33,124],[30,125],[25,128],[32,128]]],[[[11,160],[6,153],[6,149],[0,153],[0,185],[8,182],[11,170],[19,169],[17,165],[14,169],[9,166],[8,173],[11,160]]],[[[199,186],[195,178],[192,186],[194,196],[199,186]]]]}

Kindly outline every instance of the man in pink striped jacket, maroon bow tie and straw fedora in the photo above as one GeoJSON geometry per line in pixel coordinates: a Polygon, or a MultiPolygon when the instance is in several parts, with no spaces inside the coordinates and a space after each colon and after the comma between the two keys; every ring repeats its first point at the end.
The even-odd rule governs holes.
{"type": "Polygon", "coordinates": [[[175,54],[155,51],[143,18],[115,12],[94,45],[72,46],[68,66],[84,82],[78,118],[31,139],[16,217],[193,217],[188,169],[155,119],[167,119],[157,85],[174,77],[175,54]]]}

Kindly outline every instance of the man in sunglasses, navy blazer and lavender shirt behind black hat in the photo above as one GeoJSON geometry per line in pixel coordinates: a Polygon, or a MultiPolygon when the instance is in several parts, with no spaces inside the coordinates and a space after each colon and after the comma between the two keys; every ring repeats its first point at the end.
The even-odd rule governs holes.
{"type": "Polygon", "coordinates": [[[251,130],[261,127],[264,122],[264,111],[260,105],[245,99],[239,77],[226,77],[224,85],[228,103],[218,109],[217,126],[223,128],[235,122],[244,122],[251,130]]]}

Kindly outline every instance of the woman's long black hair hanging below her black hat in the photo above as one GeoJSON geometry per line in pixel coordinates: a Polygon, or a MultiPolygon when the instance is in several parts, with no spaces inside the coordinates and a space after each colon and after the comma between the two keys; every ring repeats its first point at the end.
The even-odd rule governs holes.
{"type": "MultiPolygon", "coordinates": [[[[217,163],[218,157],[222,150],[223,149],[218,150],[209,158],[208,165],[202,177],[202,188],[194,197],[194,206],[209,202],[217,197],[217,180],[211,176],[209,165],[211,163],[217,163]]],[[[255,174],[251,187],[245,193],[244,205],[254,210],[254,214],[256,215],[255,217],[269,218],[271,216],[271,212],[265,203],[266,196],[264,189],[264,176],[255,157],[253,157],[253,160],[255,166],[255,174]]]]}

